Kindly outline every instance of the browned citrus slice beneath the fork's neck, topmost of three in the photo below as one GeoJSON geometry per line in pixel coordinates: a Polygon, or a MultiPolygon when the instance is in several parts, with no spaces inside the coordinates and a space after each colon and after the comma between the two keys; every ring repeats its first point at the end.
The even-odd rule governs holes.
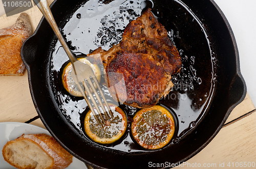
{"type": "MultiPolygon", "coordinates": [[[[100,69],[98,67],[98,65],[95,64],[91,64],[90,61],[88,61],[86,58],[78,58],[78,61],[89,65],[95,76],[97,77],[98,82],[100,82],[100,69]]],[[[63,87],[73,96],[77,96],[77,97],[82,97],[82,94],[80,93],[75,81],[73,80],[72,76],[71,76],[71,70],[72,70],[72,65],[69,62],[65,68],[63,69],[63,73],[62,73],[62,84],[63,87]]],[[[96,85],[95,85],[95,88],[96,85]]]]}

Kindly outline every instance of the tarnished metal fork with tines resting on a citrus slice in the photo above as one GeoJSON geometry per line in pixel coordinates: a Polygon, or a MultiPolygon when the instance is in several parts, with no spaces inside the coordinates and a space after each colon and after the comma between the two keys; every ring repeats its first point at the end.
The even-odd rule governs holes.
{"type": "Polygon", "coordinates": [[[52,15],[51,9],[47,3],[47,0],[33,0],[37,7],[39,8],[39,10],[41,11],[41,13],[45,16],[46,20],[48,21],[48,23],[50,24],[50,26],[52,27],[55,35],[57,36],[58,40],[60,41],[62,47],[64,48],[64,50],[66,51],[70,62],[72,64],[72,72],[71,72],[71,76],[73,78],[73,80],[75,81],[79,91],[81,92],[83,98],[86,100],[89,108],[91,109],[93,116],[95,117],[95,119],[97,120],[98,124],[105,124],[105,119],[103,118],[103,116],[101,115],[101,111],[99,109],[99,107],[97,106],[96,100],[93,97],[93,94],[91,92],[90,89],[92,89],[94,95],[96,96],[96,99],[98,100],[106,120],[110,121],[110,119],[114,118],[113,112],[110,108],[110,106],[108,105],[108,103],[106,102],[106,99],[104,97],[104,94],[99,86],[99,83],[97,81],[96,76],[93,73],[93,70],[91,69],[91,67],[87,64],[83,64],[80,61],[78,61],[76,59],[76,57],[74,56],[74,54],[72,53],[72,51],[70,50],[69,46],[67,45],[65,39],[63,38],[63,36],[61,35],[58,26],[55,22],[55,19],[52,15]],[[39,1],[39,2],[38,2],[39,1]],[[80,82],[82,82],[82,86],[84,87],[84,89],[82,88],[82,86],[80,85],[80,82]],[[89,85],[88,85],[89,84],[89,85]],[[109,117],[108,112],[105,110],[105,107],[100,99],[100,96],[98,95],[94,84],[96,85],[96,87],[98,88],[98,91],[103,99],[103,102],[105,103],[106,108],[108,109],[111,117],[109,117]],[[90,97],[90,100],[92,101],[92,103],[89,101],[88,97],[86,96],[86,93],[88,94],[88,96],[90,97]],[[93,106],[93,105],[94,106],[93,106]],[[100,116],[101,121],[99,120],[99,118],[96,115],[96,112],[94,110],[94,107],[96,108],[98,115],[100,116]]]}

